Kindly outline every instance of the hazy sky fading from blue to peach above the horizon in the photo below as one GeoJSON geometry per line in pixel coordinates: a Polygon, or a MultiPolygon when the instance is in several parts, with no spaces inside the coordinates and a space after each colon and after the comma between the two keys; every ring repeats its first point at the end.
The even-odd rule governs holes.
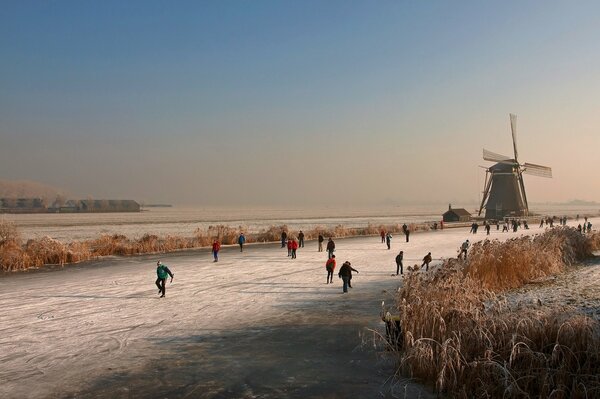
{"type": "Polygon", "coordinates": [[[598,1],[8,1],[0,178],[174,204],[600,200],[598,1]]]}

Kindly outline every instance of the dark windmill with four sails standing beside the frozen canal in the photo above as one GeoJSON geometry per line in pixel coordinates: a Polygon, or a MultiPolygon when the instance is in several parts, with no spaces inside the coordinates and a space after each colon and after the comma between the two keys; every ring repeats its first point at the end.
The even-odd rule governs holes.
{"type": "Polygon", "coordinates": [[[515,157],[510,158],[483,149],[483,159],[496,162],[486,168],[483,199],[479,216],[485,208],[486,219],[501,219],[506,216],[529,216],[529,205],[523,184],[523,174],[552,177],[547,166],[525,162],[519,163],[517,153],[517,116],[510,114],[510,129],[513,137],[515,157]]]}

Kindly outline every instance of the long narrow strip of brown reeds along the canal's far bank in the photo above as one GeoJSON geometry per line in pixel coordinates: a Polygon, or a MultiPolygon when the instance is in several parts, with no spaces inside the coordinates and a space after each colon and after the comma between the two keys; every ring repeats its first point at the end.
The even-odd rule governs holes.
{"type": "MultiPolygon", "coordinates": [[[[427,224],[411,224],[411,231],[427,230],[427,224]]],[[[287,225],[270,226],[255,233],[247,233],[247,227],[227,225],[209,226],[207,229],[196,229],[190,237],[157,236],[145,234],[140,238],[129,238],[124,235],[101,235],[93,240],[62,243],[50,237],[32,239],[23,243],[17,227],[13,223],[0,223],[0,270],[26,270],[44,265],[64,265],[103,256],[131,256],[148,253],[165,253],[183,249],[210,246],[214,240],[224,245],[237,244],[240,233],[245,233],[246,243],[275,242],[281,239],[285,231],[290,238],[297,238],[299,230],[287,225]]],[[[391,233],[402,231],[399,224],[368,225],[366,227],[349,228],[338,225],[333,228],[317,226],[304,231],[305,240],[316,239],[319,234],[324,237],[352,237],[379,234],[381,230],[391,233]]]]}

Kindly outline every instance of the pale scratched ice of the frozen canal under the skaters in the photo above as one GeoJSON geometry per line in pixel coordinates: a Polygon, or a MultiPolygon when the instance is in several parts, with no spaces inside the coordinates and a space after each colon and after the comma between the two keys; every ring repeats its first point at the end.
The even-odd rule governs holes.
{"type": "MultiPolygon", "coordinates": [[[[206,250],[161,256],[175,273],[163,299],[157,256],[3,275],[0,397],[402,397],[407,381],[390,383],[393,368],[367,330],[383,330],[381,300],[401,284],[395,255],[404,251],[405,267],[429,251],[439,262],[484,234],[395,236],[392,250],[378,237],[336,240],[338,265],[350,260],[360,272],[348,294],[337,275],[325,284],[315,242],[295,260],[273,244],[225,248],[218,263],[206,250]]],[[[599,269],[569,273],[592,305],[599,269]]],[[[418,395],[428,393],[409,384],[407,396],[418,395]]]]}

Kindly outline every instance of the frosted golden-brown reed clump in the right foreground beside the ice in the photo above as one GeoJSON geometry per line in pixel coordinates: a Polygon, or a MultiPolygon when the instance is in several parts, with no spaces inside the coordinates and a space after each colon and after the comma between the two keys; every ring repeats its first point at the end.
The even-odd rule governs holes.
{"type": "Polygon", "coordinates": [[[589,256],[598,236],[557,228],[475,245],[468,262],[409,271],[399,292],[399,372],[458,398],[600,397],[600,324],[573,307],[503,293],[589,256]]]}

